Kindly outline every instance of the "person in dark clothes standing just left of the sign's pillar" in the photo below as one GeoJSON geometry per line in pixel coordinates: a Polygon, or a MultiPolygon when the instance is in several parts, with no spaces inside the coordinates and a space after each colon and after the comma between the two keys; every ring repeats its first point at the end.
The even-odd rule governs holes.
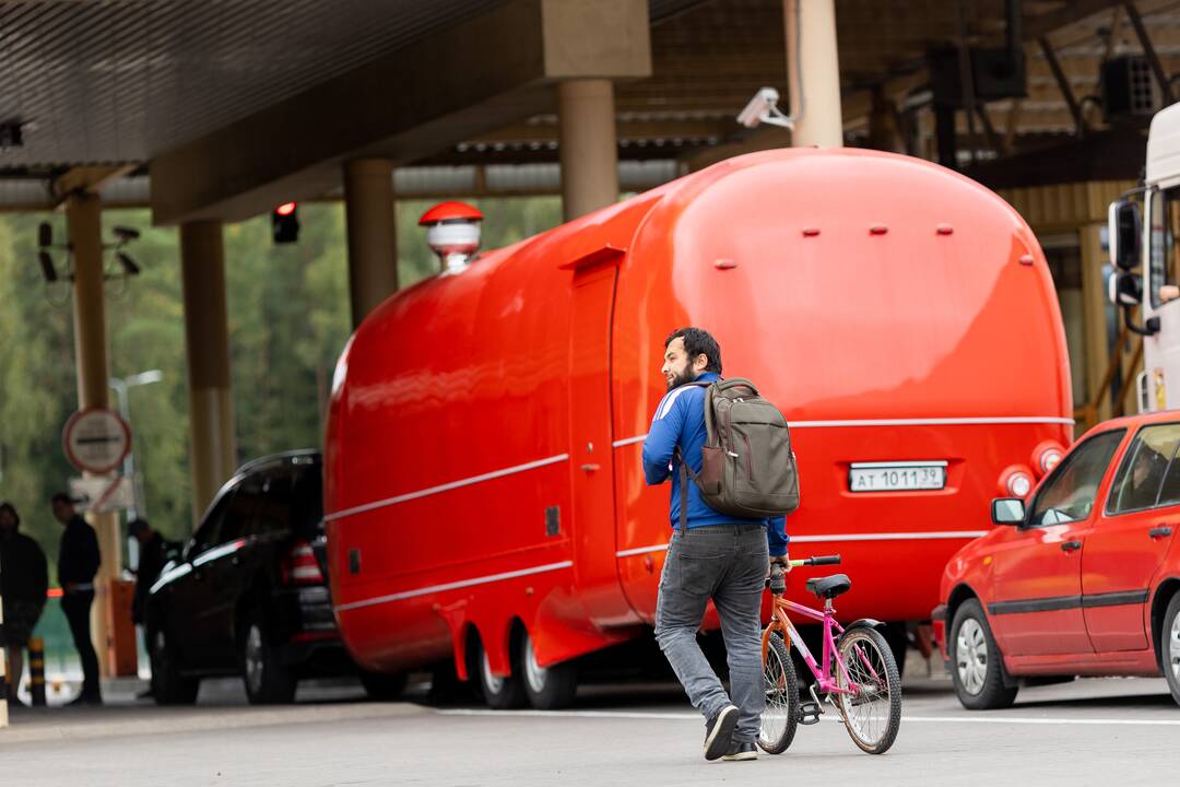
{"type": "Polygon", "coordinates": [[[94,575],[101,557],[98,536],[86,520],[78,516],[68,494],[58,492],[52,498],[53,516],[66,526],[58,552],[58,582],[61,583],[61,611],[70,622],[70,634],[81,658],[81,694],[72,704],[101,704],[98,683],[98,655],[90,638],[90,606],[94,603],[94,575]]]}

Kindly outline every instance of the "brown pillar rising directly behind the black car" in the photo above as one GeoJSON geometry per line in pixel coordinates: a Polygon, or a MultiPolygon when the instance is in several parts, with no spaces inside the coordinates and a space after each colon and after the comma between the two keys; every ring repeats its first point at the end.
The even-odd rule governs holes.
{"type": "Polygon", "coordinates": [[[192,516],[199,522],[237,467],[230,401],[225,248],[222,223],[181,225],[184,346],[189,361],[189,435],[192,516]]]}

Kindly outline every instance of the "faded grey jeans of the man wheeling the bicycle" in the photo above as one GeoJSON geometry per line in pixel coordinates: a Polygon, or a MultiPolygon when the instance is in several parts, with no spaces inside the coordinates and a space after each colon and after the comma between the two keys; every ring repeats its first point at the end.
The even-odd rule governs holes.
{"type": "Polygon", "coordinates": [[[676,530],[660,577],[656,641],[693,707],[712,719],[730,703],[696,643],[712,598],[721,618],[729,688],[738,706],[734,740],[754,741],[766,707],[762,687],[761,606],[769,552],[761,525],[676,530]]]}

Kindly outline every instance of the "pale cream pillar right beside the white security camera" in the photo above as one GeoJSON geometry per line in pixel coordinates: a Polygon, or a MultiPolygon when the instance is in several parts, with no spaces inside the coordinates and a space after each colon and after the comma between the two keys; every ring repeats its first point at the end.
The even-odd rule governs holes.
{"type": "Polygon", "coordinates": [[[839,147],[844,144],[844,120],[835,0],[784,0],[784,15],[791,114],[798,118],[791,144],[839,147]]]}

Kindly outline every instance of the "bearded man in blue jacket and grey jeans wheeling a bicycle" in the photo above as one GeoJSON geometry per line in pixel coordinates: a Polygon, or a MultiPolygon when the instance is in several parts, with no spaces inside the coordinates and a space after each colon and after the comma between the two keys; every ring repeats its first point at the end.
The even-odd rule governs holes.
{"type": "Polygon", "coordinates": [[[689,481],[687,526],[678,526],[677,463],[686,461],[699,474],[706,440],[704,388],[687,383],[721,379],[721,348],[700,328],[675,330],[664,341],[661,373],[668,381],[668,394],[643,441],[647,483],[662,484],[671,477],[673,537],[660,578],[656,640],[693,707],[704,716],[704,759],[753,760],[758,758],[754,742],[766,704],[762,590],[769,564],[787,559],[785,518],[742,519],[719,513],[689,481]],[[721,618],[733,701],[696,642],[710,598],[721,618]]]}

